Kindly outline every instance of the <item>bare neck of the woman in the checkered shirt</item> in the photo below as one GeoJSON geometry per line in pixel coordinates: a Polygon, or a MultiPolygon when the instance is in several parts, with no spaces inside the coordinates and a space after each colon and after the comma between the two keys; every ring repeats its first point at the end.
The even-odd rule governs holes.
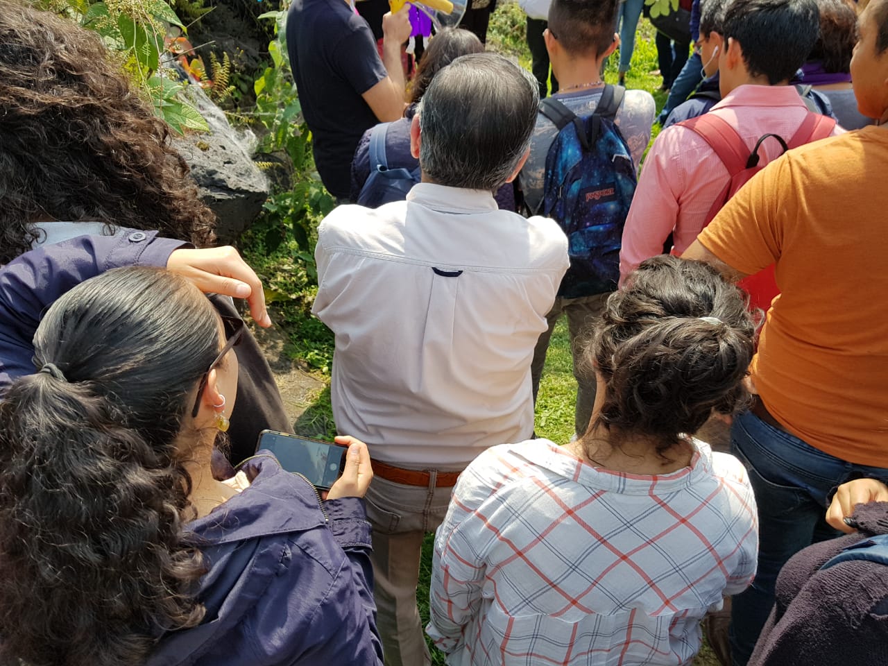
{"type": "Polygon", "coordinates": [[[643,476],[678,472],[691,464],[694,456],[689,440],[663,442],[656,437],[618,436],[604,427],[590,429],[567,446],[575,456],[601,469],[643,476]],[[667,448],[657,451],[657,445],[663,443],[667,448]]]}

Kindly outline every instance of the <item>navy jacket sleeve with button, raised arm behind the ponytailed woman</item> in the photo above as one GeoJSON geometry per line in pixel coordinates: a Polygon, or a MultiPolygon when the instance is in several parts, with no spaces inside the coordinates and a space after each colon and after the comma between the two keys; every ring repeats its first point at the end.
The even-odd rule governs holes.
{"type": "Polygon", "coordinates": [[[120,266],[166,266],[189,243],[155,231],[121,230],[116,236],[80,236],[26,252],[0,268],[0,395],[12,381],[35,372],[34,331],[44,310],[76,284],[120,266]]]}

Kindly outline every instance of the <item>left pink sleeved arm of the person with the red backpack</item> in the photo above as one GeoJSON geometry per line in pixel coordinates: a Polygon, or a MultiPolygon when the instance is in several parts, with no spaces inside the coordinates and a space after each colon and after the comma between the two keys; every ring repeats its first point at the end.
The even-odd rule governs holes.
{"type": "Polygon", "coordinates": [[[620,250],[620,284],[646,258],[663,252],[663,243],[678,220],[678,196],[681,194],[681,166],[671,146],[670,134],[684,131],[674,128],[662,131],[638,178],[626,225],[622,230],[620,250]]]}

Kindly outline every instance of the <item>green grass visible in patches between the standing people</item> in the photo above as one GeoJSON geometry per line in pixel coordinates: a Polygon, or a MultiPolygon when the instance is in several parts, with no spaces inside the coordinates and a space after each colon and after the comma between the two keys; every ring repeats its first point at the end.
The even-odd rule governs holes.
{"type": "MultiPolygon", "coordinates": [[[[525,14],[518,4],[506,2],[496,8],[490,20],[488,50],[500,52],[516,59],[522,67],[530,68],[530,53],[525,43],[525,14]]],[[[617,81],[618,52],[608,59],[605,69],[607,83],[617,81]]],[[[647,20],[638,24],[638,37],[632,54],[630,71],[626,76],[626,86],[651,92],[659,110],[666,101],[666,95],[657,88],[662,83],[659,75],[652,72],[657,68],[654,29],[647,20]]],[[[654,126],[654,137],[659,130],[654,126]]],[[[294,356],[304,365],[313,369],[319,377],[329,378],[333,339],[329,331],[314,320],[308,310],[313,297],[313,289],[308,286],[304,273],[301,273],[293,254],[297,247],[292,239],[281,244],[274,252],[267,252],[263,243],[265,232],[259,228],[242,239],[242,250],[250,265],[270,287],[269,295],[274,301],[271,307],[279,325],[289,331],[294,356]]],[[[551,345],[540,382],[536,402],[536,433],[547,439],[563,444],[574,432],[574,404],[576,382],[572,370],[572,358],[567,334],[567,323],[559,321],[551,338],[551,345]]],[[[329,403],[329,388],[321,393],[314,404],[299,419],[298,426],[305,432],[332,433],[333,417],[329,403]]],[[[429,580],[432,566],[432,535],[427,535],[423,546],[423,559],[420,565],[420,581],[416,599],[423,623],[428,622],[429,580]]],[[[444,655],[430,643],[432,663],[444,664],[444,655]]],[[[717,666],[714,655],[704,644],[701,654],[694,660],[694,666],[717,666]]]]}

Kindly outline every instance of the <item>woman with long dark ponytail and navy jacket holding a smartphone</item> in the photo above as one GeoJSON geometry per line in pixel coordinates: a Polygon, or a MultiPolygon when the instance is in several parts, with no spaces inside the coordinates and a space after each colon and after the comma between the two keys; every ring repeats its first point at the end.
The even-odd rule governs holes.
{"type": "Polygon", "coordinates": [[[240,483],[210,472],[242,332],[150,268],[46,313],[0,403],[0,662],[382,663],[366,446],[337,438],[323,502],[261,452],[240,483]]]}

